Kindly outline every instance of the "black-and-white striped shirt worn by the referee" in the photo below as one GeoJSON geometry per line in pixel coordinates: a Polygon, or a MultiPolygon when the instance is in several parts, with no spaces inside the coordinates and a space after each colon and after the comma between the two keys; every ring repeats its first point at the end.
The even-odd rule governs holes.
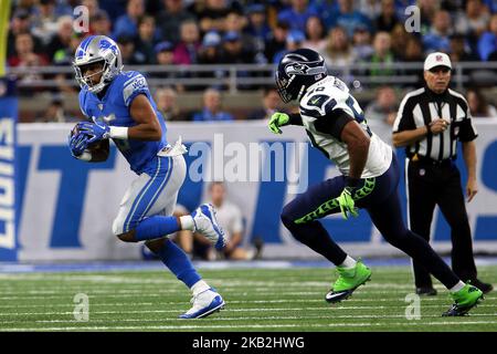
{"type": "Polygon", "coordinates": [[[408,93],[402,100],[393,133],[413,131],[437,118],[451,122],[450,128],[437,135],[429,133],[423,139],[409,145],[405,148],[408,157],[417,155],[434,160],[455,158],[457,140],[470,142],[477,137],[466,98],[451,88],[436,94],[426,86],[408,93]]]}

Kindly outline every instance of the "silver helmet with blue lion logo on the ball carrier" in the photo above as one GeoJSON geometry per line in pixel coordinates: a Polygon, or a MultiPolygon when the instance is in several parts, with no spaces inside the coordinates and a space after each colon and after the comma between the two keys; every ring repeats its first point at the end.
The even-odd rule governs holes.
{"type": "Polygon", "coordinates": [[[89,35],[77,46],[73,67],[80,86],[92,93],[98,93],[123,71],[119,46],[108,37],[89,35]],[[92,84],[91,76],[83,75],[82,66],[97,62],[103,63],[103,69],[93,75],[102,73],[102,79],[97,84],[92,84]]]}

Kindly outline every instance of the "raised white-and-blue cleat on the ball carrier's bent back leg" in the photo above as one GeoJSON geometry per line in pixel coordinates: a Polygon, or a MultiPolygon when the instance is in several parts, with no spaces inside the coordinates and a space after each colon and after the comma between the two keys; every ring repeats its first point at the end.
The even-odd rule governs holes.
{"type": "Polygon", "coordinates": [[[194,231],[205,236],[215,249],[221,250],[226,244],[223,229],[218,225],[215,209],[210,204],[202,204],[191,214],[194,223],[194,231]]]}

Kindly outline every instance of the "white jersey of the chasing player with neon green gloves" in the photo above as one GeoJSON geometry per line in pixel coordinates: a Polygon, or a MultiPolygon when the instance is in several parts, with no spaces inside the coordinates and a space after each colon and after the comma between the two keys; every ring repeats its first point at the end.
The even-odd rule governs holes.
{"type": "Polygon", "coordinates": [[[331,125],[329,119],[336,118],[338,110],[355,118],[370,136],[368,159],[361,178],[381,176],[390,167],[392,148],[370,131],[359,103],[338,77],[328,76],[315,83],[300,100],[302,121],[313,146],[331,159],[342,175],[349,175],[350,157],[347,144],[329,132],[324,133],[321,128],[327,124],[331,125]]]}

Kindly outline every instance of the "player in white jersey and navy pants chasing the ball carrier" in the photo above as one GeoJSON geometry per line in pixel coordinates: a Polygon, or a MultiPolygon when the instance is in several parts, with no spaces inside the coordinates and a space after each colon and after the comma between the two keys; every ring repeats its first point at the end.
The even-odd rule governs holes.
{"type": "Polygon", "coordinates": [[[276,84],[284,102],[299,103],[299,114],[273,114],[271,131],[281,134],[281,126],[304,126],[313,146],[341,173],[309,187],[282,212],[282,221],[295,239],[337,266],[339,277],[326,300],[347,299],[370,279],[371,271],[334,242],[318,219],[336,212],[347,219],[358,215],[357,208],[364,208],[387,241],[423,264],[451,291],[455,303],[444,315],[463,315],[475,306],[482,291],[462,282],[422,237],[405,227],[395,155],[371,132],[347,85],[327,74],[322,56],[308,49],[285,54],[276,84]]]}

